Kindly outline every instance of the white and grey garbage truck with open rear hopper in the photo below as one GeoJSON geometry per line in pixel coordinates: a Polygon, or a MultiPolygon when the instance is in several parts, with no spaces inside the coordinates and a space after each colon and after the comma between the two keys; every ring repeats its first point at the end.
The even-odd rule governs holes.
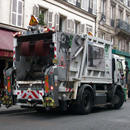
{"type": "Polygon", "coordinates": [[[13,66],[3,71],[7,108],[88,114],[95,106],[123,105],[122,60],[112,54],[112,42],[37,25],[15,33],[13,41],[13,66]]]}

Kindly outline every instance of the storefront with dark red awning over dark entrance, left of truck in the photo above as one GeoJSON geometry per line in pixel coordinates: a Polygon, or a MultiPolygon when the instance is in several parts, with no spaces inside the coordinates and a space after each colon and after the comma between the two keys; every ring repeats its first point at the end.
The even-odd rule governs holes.
{"type": "Polygon", "coordinates": [[[3,70],[8,60],[13,60],[13,32],[0,29],[0,97],[4,89],[3,70]]]}

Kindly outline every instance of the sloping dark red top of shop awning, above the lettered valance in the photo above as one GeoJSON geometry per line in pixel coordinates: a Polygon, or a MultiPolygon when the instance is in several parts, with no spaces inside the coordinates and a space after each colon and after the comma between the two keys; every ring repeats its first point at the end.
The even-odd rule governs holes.
{"type": "Polygon", "coordinates": [[[0,29],[0,50],[13,51],[13,32],[0,29]]]}

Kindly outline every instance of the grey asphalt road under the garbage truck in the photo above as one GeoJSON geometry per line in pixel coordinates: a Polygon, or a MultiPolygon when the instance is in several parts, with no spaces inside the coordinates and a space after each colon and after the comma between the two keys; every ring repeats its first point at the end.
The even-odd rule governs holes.
{"type": "Polygon", "coordinates": [[[130,130],[130,100],[119,110],[96,108],[88,115],[2,107],[0,130],[130,130]]]}

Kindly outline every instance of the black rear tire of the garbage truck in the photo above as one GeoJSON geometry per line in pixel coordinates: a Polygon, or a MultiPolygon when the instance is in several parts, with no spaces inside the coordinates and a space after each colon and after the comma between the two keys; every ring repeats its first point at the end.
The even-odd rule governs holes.
{"type": "Polygon", "coordinates": [[[79,114],[89,114],[92,109],[92,95],[89,90],[85,90],[81,96],[82,100],[80,105],[76,106],[76,112],[79,114]]]}

